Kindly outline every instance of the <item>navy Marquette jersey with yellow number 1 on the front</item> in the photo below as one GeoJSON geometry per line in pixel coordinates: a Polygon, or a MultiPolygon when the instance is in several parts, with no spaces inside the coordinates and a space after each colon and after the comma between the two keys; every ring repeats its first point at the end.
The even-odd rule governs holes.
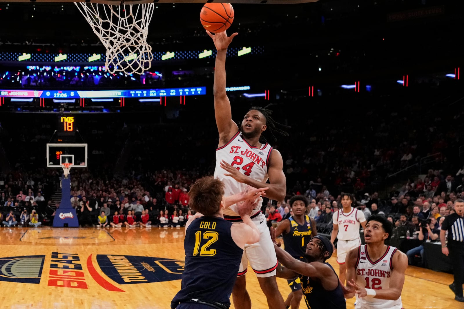
{"type": "Polygon", "coordinates": [[[290,232],[284,233],[284,249],[289,252],[292,257],[299,260],[304,260],[306,246],[311,239],[312,227],[311,220],[308,215],[305,215],[305,222],[299,225],[293,217],[289,217],[290,232]]]}

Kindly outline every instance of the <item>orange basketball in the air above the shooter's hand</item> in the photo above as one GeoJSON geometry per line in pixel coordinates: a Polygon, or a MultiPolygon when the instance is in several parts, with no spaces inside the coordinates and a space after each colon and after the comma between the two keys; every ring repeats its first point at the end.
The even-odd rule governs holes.
{"type": "Polygon", "coordinates": [[[230,3],[206,3],[200,12],[201,25],[213,33],[226,31],[232,25],[233,17],[230,3]]]}

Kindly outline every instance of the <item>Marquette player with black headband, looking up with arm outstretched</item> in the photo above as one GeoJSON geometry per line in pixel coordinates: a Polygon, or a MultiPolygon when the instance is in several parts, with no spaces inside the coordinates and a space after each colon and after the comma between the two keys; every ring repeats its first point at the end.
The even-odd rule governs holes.
{"type": "Polygon", "coordinates": [[[324,236],[316,235],[306,246],[306,262],[293,258],[290,253],[279,248],[276,231],[271,227],[271,237],[278,261],[278,277],[301,281],[304,301],[308,309],[346,309],[346,292],[335,270],[326,260],[332,256],[334,247],[324,236]]]}

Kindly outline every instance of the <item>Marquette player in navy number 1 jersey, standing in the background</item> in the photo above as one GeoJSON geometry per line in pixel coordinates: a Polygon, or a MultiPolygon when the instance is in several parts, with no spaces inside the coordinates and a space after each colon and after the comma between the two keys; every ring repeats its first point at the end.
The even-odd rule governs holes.
{"type": "MultiPolygon", "coordinates": [[[[295,195],[290,199],[290,208],[293,215],[286,220],[282,220],[276,227],[276,237],[281,234],[284,238],[284,250],[294,258],[305,261],[306,246],[311,237],[317,235],[316,221],[304,214],[309,205],[309,200],[304,195],[295,195]]],[[[300,308],[300,302],[303,298],[300,278],[287,280],[291,292],[285,301],[286,306],[291,309],[300,308]]]]}

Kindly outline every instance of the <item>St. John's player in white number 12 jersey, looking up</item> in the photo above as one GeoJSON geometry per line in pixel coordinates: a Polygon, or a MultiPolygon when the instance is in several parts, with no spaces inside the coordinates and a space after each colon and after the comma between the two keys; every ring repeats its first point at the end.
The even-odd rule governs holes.
{"type": "Polygon", "coordinates": [[[356,309],[401,309],[401,291],[408,265],[406,254],[385,245],[392,225],[381,215],[371,215],[364,229],[366,245],[348,252],[347,285],[356,295],[356,309]]]}

